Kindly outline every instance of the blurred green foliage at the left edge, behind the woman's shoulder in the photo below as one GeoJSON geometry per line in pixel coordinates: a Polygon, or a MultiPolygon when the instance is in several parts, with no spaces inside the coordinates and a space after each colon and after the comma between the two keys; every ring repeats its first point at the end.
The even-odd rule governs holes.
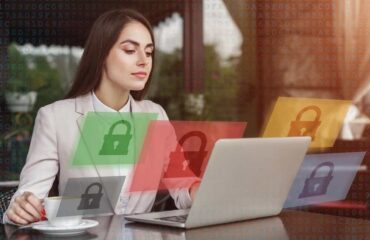
{"type": "Polygon", "coordinates": [[[23,54],[17,45],[12,43],[8,46],[8,66],[9,78],[1,91],[2,94],[37,92],[33,111],[12,113],[11,125],[7,128],[2,126],[4,131],[0,134],[0,166],[4,170],[19,173],[30,144],[32,119],[40,107],[62,98],[64,92],[57,69],[45,55],[23,54]],[[29,120],[24,122],[24,118],[29,120]]]}

